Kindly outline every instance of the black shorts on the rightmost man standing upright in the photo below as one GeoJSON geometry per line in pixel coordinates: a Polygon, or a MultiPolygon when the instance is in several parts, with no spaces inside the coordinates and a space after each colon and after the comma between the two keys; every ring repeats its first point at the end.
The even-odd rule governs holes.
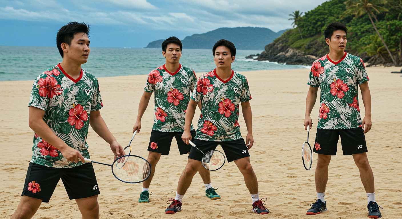
{"type": "Polygon", "coordinates": [[[343,155],[367,152],[366,139],[361,127],[354,129],[317,129],[316,143],[311,145],[317,154],[336,155],[338,139],[343,155]]]}

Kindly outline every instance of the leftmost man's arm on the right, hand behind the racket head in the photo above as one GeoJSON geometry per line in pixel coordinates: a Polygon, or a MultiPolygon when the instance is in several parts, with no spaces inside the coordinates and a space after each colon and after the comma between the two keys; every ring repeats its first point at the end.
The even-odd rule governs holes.
{"type": "Polygon", "coordinates": [[[89,125],[91,125],[96,134],[98,134],[103,140],[109,143],[110,149],[112,149],[113,154],[115,154],[114,160],[116,160],[117,157],[125,155],[123,147],[121,147],[121,145],[117,143],[115,137],[107,128],[105,121],[100,115],[100,111],[97,110],[90,113],[89,125]]]}

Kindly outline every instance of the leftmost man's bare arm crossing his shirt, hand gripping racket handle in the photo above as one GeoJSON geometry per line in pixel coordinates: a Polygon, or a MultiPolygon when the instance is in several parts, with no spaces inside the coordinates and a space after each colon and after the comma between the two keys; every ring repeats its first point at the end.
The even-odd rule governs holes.
{"type": "Polygon", "coordinates": [[[68,162],[84,162],[80,151],[68,146],[62,139],[57,137],[49,126],[43,121],[45,111],[35,106],[29,106],[29,127],[43,140],[56,147],[68,162]]]}

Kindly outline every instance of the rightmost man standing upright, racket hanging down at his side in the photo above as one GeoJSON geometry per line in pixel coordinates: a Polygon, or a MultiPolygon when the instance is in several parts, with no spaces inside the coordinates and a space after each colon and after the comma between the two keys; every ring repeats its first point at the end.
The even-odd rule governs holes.
{"type": "Polygon", "coordinates": [[[371,129],[371,96],[368,76],[361,58],[345,52],[347,28],[332,23],[326,28],[325,41],[329,53],[314,61],[308,85],[304,127],[311,128],[310,113],[316,102],[318,87],[321,89],[320,114],[318,119],[314,152],[318,154],[316,167],[317,201],[308,215],[327,210],[325,186],[328,181],[328,165],[336,155],[338,138],[342,140],[343,155],[352,155],[359,168],[360,178],[367,192],[370,218],[379,218],[381,213],[374,198],[374,176],[367,159],[364,134],[371,129]],[[363,98],[365,117],[360,117],[358,88],[363,98]],[[364,128],[364,129],[363,129],[364,128]]]}

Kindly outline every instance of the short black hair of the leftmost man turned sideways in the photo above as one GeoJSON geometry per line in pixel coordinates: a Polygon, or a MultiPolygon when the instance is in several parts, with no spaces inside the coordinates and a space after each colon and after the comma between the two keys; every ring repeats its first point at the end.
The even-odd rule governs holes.
{"type": "Polygon", "coordinates": [[[56,44],[60,55],[63,57],[62,43],[71,45],[71,41],[76,33],[85,33],[89,37],[91,27],[86,23],[70,22],[57,31],[56,44]]]}

